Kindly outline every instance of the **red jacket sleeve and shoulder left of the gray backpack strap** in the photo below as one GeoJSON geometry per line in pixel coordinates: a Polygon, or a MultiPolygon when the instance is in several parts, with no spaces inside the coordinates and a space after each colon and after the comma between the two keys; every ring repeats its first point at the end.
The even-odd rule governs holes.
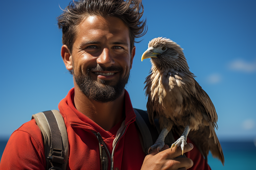
{"type": "Polygon", "coordinates": [[[42,134],[35,120],[30,120],[10,136],[1,158],[0,169],[45,169],[45,167],[42,134]]]}

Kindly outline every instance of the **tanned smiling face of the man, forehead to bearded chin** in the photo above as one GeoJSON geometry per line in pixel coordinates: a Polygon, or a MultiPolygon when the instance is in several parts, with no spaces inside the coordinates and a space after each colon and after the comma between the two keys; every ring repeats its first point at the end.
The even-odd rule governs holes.
{"type": "Polygon", "coordinates": [[[134,54],[121,19],[88,16],[77,27],[71,54],[75,83],[95,101],[114,101],[124,92],[134,54]]]}

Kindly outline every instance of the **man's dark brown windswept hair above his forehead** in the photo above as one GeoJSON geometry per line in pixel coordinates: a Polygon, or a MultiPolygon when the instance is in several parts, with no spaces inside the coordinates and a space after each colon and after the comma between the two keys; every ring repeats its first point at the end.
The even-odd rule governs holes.
{"type": "Polygon", "coordinates": [[[102,17],[120,18],[129,28],[130,52],[135,38],[146,34],[146,20],[139,21],[144,8],[141,0],[80,0],[70,2],[64,12],[57,18],[58,26],[62,28],[62,44],[67,45],[72,53],[76,26],[85,16],[96,15],[102,17]]]}

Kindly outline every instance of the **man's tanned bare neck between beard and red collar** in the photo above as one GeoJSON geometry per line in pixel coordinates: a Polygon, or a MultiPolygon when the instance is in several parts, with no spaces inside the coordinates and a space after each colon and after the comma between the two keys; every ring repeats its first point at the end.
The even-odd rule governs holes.
{"type": "Polygon", "coordinates": [[[89,117],[104,130],[109,131],[122,119],[124,91],[115,101],[100,103],[89,99],[75,85],[74,104],[78,111],[89,117]]]}

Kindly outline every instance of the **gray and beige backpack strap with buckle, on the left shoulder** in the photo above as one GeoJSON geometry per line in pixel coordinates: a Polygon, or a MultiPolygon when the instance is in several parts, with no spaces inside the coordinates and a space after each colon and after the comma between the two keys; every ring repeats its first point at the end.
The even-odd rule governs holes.
{"type": "Polygon", "coordinates": [[[46,169],[66,170],[69,156],[68,135],[58,110],[32,115],[44,137],[46,169]]]}

